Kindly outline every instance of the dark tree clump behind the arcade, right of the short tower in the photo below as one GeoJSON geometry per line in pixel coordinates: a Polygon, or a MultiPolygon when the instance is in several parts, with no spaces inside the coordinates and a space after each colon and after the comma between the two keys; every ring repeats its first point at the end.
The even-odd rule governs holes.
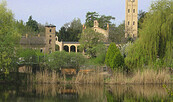
{"type": "Polygon", "coordinates": [[[59,41],[78,41],[78,35],[82,33],[82,24],[80,19],[74,19],[70,23],[64,24],[59,30],[58,40],[59,41]]]}

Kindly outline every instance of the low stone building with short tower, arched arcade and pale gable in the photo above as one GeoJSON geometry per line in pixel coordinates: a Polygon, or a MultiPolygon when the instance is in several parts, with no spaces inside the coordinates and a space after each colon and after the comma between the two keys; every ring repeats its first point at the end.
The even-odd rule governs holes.
{"type": "MultiPolygon", "coordinates": [[[[84,27],[86,29],[86,27],[84,27]]],[[[108,36],[109,36],[109,25],[107,25],[107,30],[104,30],[99,27],[97,20],[94,21],[94,31],[99,32],[105,36],[105,44],[108,45],[108,36]]],[[[32,48],[40,50],[42,53],[52,53],[55,51],[67,51],[67,52],[79,52],[79,42],[64,42],[58,41],[58,36],[56,36],[56,26],[55,25],[46,25],[45,26],[45,35],[40,36],[23,36],[20,41],[20,45],[23,48],[32,48]]],[[[84,51],[83,51],[84,53],[84,51]]]]}

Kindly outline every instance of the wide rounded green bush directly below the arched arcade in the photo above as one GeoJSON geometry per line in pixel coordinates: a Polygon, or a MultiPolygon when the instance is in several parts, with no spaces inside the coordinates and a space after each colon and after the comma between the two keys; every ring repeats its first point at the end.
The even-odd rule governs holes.
{"type": "Polygon", "coordinates": [[[53,52],[47,57],[47,65],[51,69],[59,68],[79,68],[85,62],[85,58],[80,53],[68,53],[64,51],[53,52]]]}

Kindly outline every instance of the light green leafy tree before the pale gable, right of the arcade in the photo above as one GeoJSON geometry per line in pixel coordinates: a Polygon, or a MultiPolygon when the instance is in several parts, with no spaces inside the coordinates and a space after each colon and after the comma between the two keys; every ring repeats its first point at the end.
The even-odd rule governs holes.
{"type": "Polygon", "coordinates": [[[86,50],[86,54],[89,55],[89,57],[93,58],[96,57],[96,46],[103,43],[104,39],[103,34],[95,32],[91,28],[87,28],[81,33],[79,40],[81,44],[80,47],[82,50],[86,50]]]}

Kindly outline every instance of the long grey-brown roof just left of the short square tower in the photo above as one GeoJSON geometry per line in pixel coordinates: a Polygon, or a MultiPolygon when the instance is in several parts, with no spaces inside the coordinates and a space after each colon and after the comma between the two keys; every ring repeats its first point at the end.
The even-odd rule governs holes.
{"type": "Polygon", "coordinates": [[[22,37],[20,40],[21,45],[45,45],[45,37],[44,36],[34,36],[34,37],[22,37]]]}

